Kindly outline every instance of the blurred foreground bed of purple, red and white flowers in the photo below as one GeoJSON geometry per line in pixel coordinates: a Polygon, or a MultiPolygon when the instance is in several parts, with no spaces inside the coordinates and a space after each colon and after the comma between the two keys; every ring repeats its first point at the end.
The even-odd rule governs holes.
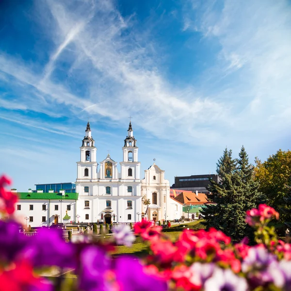
{"type": "Polygon", "coordinates": [[[232,243],[214,228],[184,229],[172,242],[161,226],[146,220],[135,224],[134,234],[119,225],[108,240],[92,235],[65,242],[59,229],[43,228],[32,237],[19,232],[17,196],[4,188],[9,184],[0,178],[0,210],[8,217],[0,221],[0,291],[291,290],[291,246],[268,226],[279,214],[267,205],[246,212],[255,231],[253,246],[246,238],[232,243]],[[147,244],[146,255],[113,258],[116,245],[131,245],[135,235],[147,244]],[[37,275],[53,267],[74,269],[77,279],[37,275]]]}

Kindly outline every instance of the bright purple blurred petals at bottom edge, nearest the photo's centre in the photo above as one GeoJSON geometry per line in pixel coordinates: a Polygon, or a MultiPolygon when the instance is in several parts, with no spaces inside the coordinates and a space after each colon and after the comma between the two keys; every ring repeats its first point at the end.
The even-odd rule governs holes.
{"type": "Polygon", "coordinates": [[[167,283],[148,275],[138,259],[120,257],[116,260],[115,274],[120,291],[166,291],[167,283]]]}

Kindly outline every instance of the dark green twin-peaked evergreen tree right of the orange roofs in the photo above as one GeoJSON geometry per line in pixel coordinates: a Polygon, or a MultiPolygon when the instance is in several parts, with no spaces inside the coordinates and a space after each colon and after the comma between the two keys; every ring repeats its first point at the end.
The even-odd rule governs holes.
{"type": "Polygon", "coordinates": [[[253,180],[253,167],[243,146],[238,160],[226,148],[216,172],[221,181],[210,179],[207,196],[213,204],[201,210],[206,219],[204,224],[224,231],[235,240],[241,239],[248,233],[245,211],[256,207],[260,198],[258,184],[253,180]]]}

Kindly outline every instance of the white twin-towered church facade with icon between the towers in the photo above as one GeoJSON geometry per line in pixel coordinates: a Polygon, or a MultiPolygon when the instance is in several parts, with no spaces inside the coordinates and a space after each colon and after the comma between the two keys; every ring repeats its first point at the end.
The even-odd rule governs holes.
{"type": "Polygon", "coordinates": [[[80,162],[77,162],[77,213],[80,213],[80,222],[133,223],[141,217],[141,163],[138,162],[138,147],[131,122],[122,151],[120,172],[118,163],[109,154],[99,162],[98,170],[97,148],[88,122],[80,147],[80,162]]]}

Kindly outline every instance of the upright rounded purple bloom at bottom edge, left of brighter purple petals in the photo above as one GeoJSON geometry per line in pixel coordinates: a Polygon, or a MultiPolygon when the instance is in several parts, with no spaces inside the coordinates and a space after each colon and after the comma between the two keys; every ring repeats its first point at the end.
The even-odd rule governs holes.
{"type": "Polygon", "coordinates": [[[79,287],[82,291],[110,291],[110,260],[105,251],[88,246],[80,255],[79,287]]]}

